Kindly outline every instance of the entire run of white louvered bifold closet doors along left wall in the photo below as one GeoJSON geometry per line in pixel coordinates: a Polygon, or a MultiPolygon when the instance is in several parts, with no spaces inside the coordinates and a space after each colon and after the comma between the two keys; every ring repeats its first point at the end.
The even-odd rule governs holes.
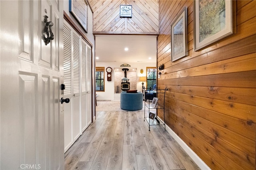
{"type": "Polygon", "coordinates": [[[64,105],[65,152],[92,120],[91,64],[87,63],[88,57],[91,61],[91,47],[64,21],[64,98],[70,99],[70,103],[64,105]],[[87,67],[90,67],[90,76],[87,67]]]}

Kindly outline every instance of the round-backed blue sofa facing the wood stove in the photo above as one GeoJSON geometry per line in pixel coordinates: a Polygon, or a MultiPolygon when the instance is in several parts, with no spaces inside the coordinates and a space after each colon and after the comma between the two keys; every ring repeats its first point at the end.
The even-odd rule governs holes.
{"type": "Polygon", "coordinates": [[[120,93],[120,107],[123,110],[136,111],[143,107],[143,93],[122,91],[120,93]]]}

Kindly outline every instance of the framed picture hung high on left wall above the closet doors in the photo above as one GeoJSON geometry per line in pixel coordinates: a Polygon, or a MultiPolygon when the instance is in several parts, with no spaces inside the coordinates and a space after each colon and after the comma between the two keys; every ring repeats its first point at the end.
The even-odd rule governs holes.
{"type": "Polygon", "coordinates": [[[87,32],[87,8],[86,0],[69,0],[69,12],[76,18],[78,23],[87,32]]]}

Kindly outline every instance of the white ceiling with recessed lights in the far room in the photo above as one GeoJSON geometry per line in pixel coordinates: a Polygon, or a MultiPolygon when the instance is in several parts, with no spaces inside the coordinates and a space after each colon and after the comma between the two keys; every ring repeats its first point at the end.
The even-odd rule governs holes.
{"type": "Polygon", "coordinates": [[[96,62],[156,63],[156,38],[156,35],[95,35],[95,57],[99,57],[96,62]]]}

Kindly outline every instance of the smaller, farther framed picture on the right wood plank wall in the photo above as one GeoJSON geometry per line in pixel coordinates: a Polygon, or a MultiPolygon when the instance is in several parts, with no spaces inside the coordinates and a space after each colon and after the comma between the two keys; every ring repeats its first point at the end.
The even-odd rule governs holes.
{"type": "Polygon", "coordinates": [[[172,61],[187,55],[187,8],[171,24],[172,61]]]}

